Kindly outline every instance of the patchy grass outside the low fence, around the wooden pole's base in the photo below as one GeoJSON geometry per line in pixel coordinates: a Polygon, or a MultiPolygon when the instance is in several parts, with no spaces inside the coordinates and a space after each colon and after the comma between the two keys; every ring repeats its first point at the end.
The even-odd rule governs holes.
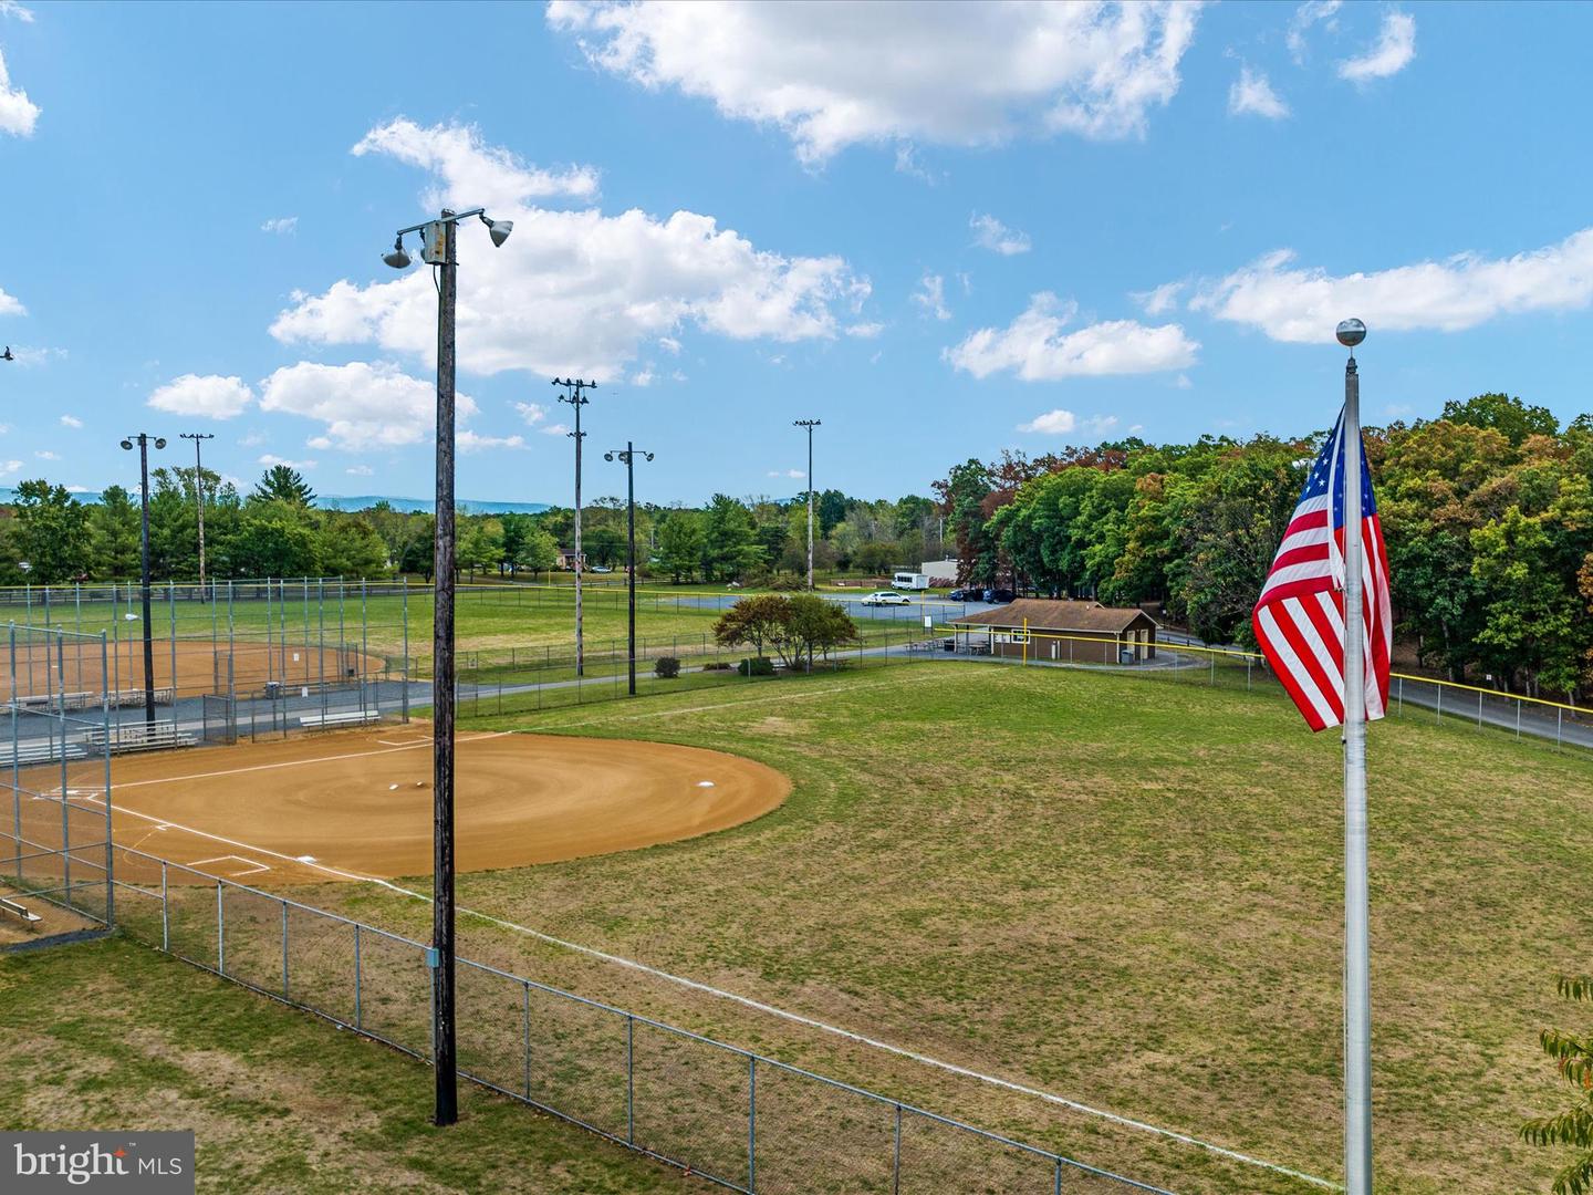
{"type": "Polygon", "coordinates": [[[191,1128],[202,1192],[707,1190],[123,940],[0,956],[0,1125],[191,1128]],[[70,993],[70,996],[67,996],[70,993]]]}

